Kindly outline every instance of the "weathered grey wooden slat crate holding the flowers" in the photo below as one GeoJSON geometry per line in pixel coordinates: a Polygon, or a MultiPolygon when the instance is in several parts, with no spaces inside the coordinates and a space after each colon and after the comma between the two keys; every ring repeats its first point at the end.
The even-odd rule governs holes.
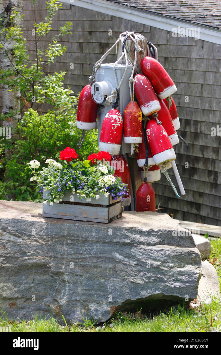
{"type": "MultiPolygon", "coordinates": [[[[43,200],[48,200],[49,191],[43,189],[43,200]]],[[[96,200],[92,198],[90,202],[79,195],[68,192],[60,203],[53,203],[52,206],[43,203],[43,216],[52,218],[73,219],[89,222],[109,223],[122,215],[122,202],[120,198],[113,200],[109,195],[103,194],[96,200]]]]}

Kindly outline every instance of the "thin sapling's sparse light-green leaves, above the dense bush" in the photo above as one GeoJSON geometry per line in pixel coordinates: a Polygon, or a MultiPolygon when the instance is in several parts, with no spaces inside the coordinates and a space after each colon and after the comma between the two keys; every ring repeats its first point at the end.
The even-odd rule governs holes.
{"type": "MultiPolygon", "coordinates": [[[[28,53],[30,48],[28,48],[27,39],[23,35],[23,25],[16,21],[16,18],[19,17],[16,10],[12,11],[10,17],[13,26],[2,28],[0,31],[0,49],[11,62],[11,66],[6,71],[0,71],[0,83],[8,85],[10,91],[21,91],[24,98],[22,109],[26,102],[31,102],[31,107],[36,102],[37,108],[43,103],[55,104],[61,108],[64,104],[72,105],[74,100],[69,96],[72,91],[62,88],[65,72],[55,73],[54,76],[45,76],[46,67],[53,63],[57,56],[64,55],[67,50],[65,45],[61,45],[58,40],[66,34],[71,34],[72,28],[72,23],[66,22],[64,26],[60,27],[58,34],[48,43],[47,48],[43,50],[43,46],[39,47],[40,41],[45,40],[44,36],[52,29],[51,23],[57,10],[62,7],[57,0],[51,0],[46,4],[48,15],[44,22],[34,22],[33,39],[29,38],[32,50],[35,50],[34,61],[31,60],[28,53]],[[11,43],[13,43],[13,49],[11,49],[11,43]]],[[[33,1],[33,7],[35,16],[35,1],[33,1]]]]}

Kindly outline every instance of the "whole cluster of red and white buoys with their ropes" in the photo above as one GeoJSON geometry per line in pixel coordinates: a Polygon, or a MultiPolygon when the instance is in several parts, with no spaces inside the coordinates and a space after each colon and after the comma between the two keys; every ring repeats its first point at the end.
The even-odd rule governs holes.
{"type": "MultiPolygon", "coordinates": [[[[122,56],[120,59],[125,59],[126,63],[128,63],[128,53],[125,47],[127,38],[133,39],[136,48],[135,59],[132,63],[132,76],[129,82],[131,101],[127,104],[122,118],[117,107],[118,91],[123,78],[118,85],[115,75],[116,88],[111,91],[109,97],[106,97],[106,100],[115,97],[115,102],[103,120],[99,149],[112,155],[111,164],[118,167],[115,169],[115,176],[120,176],[122,181],[128,184],[129,196],[124,199],[123,206],[129,206],[131,203],[130,171],[126,158],[119,154],[122,138],[126,144],[131,144],[131,154],[136,152],[137,164],[143,180],[136,194],[136,211],[155,211],[155,192],[151,184],[160,180],[160,172],[165,174],[176,196],[178,196],[176,188],[167,173],[167,170],[173,167],[181,194],[185,194],[178,171],[175,168],[174,160],[176,159],[176,154],[173,149],[173,146],[179,143],[176,131],[180,126],[179,117],[175,102],[171,97],[177,91],[177,88],[160,62],[149,56],[151,51],[148,51],[148,56],[143,56],[140,62],[142,73],[138,73],[137,55],[138,53],[142,55],[143,49],[139,47],[136,35],[133,32],[126,32],[120,36],[122,42],[122,56]],[[124,39],[123,41],[122,38],[124,39]],[[133,83],[133,91],[131,90],[131,83],[133,83]],[[119,169],[119,166],[123,166],[124,169],[119,169]]],[[[119,39],[116,43],[118,42],[119,39]]],[[[113,47],[114,45],[111,49],[113,47]]],[[[94,65],[93,74],[90,77],[91,85],[95,80],[95,73],[99,65],[109,52],[110,50],[94,65]]],[[[117,60],[115,65],[120,59],[117,60]]],[[[131,58],[130,62],[132,62],[131,58]]],[[[93,90],[95,92],[96,88],[94,86],[93,90]]],[[[79,97],[77,127],[82,130],[93,129],[96,125],[98,104],[95,103],[90,88],[90,85],[85,86],[79,97]]]]}

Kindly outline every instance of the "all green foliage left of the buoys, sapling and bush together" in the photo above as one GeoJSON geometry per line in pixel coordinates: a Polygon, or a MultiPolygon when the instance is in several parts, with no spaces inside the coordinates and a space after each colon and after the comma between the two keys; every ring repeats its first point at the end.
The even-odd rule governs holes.
{"type": "MultiPolygon", "coordinates": [[[[23,26],[18,21],[23,15],[12,11],[9,25],[5,24],[0,31],[0,50],[11,62],[6,71],[0,71],[0,83],[8,85],[9,91],[15,94],[20,91],[22,102],[20,112],[15,110],[0,114],[2,120],[10,121],[13,116],[18,117],[15,142],[0,137],[0,199],[6,199],[5,195],[8,195],[20,201],[42,201],[38,189],[35,191],[34,182],[30,181],[29,171],[25,169],[30,160],[37,159],[44,166],[47,158],[57,158],[67,146],[75,148],[80,159],[87,159],[90,152],[98,151],[97,130],[86,132],[81,151],[78,151],[77,143],[82,133],[75,123],[78,98],[69,87],[64,87],[65,72],[45,75],[50,64],[65,54],[66,47],[59,40],[71,34],[72,28],[72,23],[66,22],[43,50],[41,41],[46,41],[45,35],[52,29],[54,16],[62,7],[56,0],[46,4],[48,12],[45,21],[34,22],[33,36],[29,38],[35,51],[34,61],[28,53],[30,48],[23,26]],[[42,112],[43,107],[47,110],[43,104],[48,107],[50,104],[48,113],[42,112]],[[5,151],[9,153],[7,158],[5,151]]],[[[35,0],[33,9],[35,16],[35,0]]]]}

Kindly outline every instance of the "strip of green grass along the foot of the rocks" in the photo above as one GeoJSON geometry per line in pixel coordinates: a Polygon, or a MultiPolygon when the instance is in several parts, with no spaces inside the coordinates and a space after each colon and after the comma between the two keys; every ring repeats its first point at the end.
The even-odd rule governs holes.
{"type": "MultiPolygon", "coordinates": [[[[221,289],[221,238],[211,240],[209,260],[216,268],[221,289]]],[[[11,332],[210,332],[211,315],[213,330],[221,332],[221,300],[218,297],[213,297],[211,304],[203,304],[191,310],[178,305],[167,308],[164,312],[145,316],[120,312],[113,320],[104,324],[96,324],[89,319],[85,319],[81,324],[67,324],[63,318],[64,326],[63,322],[61,324],[55,318],[45,319],[37,316],[28,322],[9,321],[3,313],[0,317],[0,327],[11,327],[11,332]]]]}

